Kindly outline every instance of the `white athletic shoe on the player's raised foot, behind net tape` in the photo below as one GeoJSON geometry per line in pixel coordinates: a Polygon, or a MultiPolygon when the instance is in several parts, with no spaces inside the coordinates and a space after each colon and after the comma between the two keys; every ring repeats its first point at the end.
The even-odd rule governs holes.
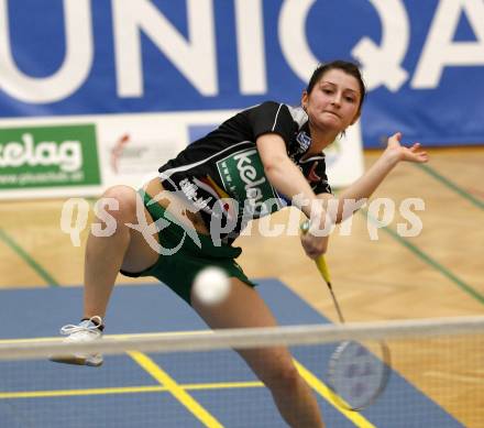
{"type": "MultiPolygon", "coordinates": [[[[78,325],[69,323],[61,329],[61,334],[67,336],[64,343],[80,343],[99,340],[102,338],[102,318],[99,316],[91,317],[80,321],[78,325]]],[[[102,355],[100,353],[82,354],[75,353],[73,355],[55,355],[50,358],[51,361],[65,364],[99,366],[102,364],[102,355]]]]}

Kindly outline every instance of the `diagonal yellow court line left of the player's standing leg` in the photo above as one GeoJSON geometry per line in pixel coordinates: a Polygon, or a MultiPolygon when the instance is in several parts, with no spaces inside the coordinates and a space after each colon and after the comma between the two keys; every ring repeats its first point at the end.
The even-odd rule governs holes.
{"type": "Polygon", "coordinates": [[[206,427],[223,428],[209,411],[207,411],[190,394],[188,394],[176,381],[146,354],[138,351],[128,352],[129,355],[150,373],[161,385],[168,388],[172,395],[190,410],[206,427]]]}

